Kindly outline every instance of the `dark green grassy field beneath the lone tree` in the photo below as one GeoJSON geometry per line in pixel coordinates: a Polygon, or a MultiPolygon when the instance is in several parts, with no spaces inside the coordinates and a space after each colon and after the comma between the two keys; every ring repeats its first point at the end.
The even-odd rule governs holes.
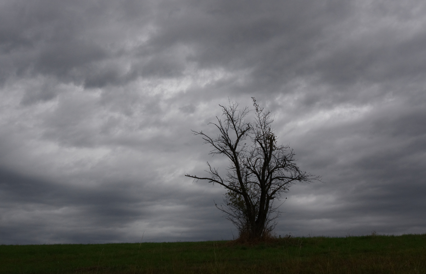
{"type": "Polygon", "coordinates": [[[272,243],[0,245],[0,273],[426,273],[426,234],[272,243]]]}

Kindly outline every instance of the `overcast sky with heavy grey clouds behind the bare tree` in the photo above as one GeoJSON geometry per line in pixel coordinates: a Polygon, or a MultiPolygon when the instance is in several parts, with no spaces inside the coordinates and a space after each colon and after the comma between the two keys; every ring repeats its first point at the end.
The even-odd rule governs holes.
{"type": "Polygon", "coordinates": [[[272,111],[276,234],[426,233],[423,0],[1,0],[0,244],[227,240],[191,129],[272,111]]]}

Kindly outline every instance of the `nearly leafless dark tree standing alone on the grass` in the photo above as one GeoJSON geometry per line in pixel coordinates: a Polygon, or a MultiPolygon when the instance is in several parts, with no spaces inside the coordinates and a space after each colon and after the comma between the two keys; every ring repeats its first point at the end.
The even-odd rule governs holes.
{"type": "MultiPolygon", "coordinates": [[[[270,111],[264,111],[253,99],[255,115],[253,122],[246,122],[248,107],[239,109],[237,103],[222,107],[222,121],[210,123],[219,130],[215,138],[202,131],[204,143],[213,148],[210,154],[221,154],[229,159],[225,174],[207,162],[208,177],[186,174],[194,180],[208,180],[227,189],[225,205],[218,207],[232,221],[240,237],[249,240],[267,236],[275,227],[279,216],[273,200],[282,198],[295,182],[319,180],[310,173],[300,171],[295,163],[294,152],[289,146],[277,145],[277,137],[271,128],[270,111]]],[[[219,105],[220,106],[220,105],[219,105]]]]}

